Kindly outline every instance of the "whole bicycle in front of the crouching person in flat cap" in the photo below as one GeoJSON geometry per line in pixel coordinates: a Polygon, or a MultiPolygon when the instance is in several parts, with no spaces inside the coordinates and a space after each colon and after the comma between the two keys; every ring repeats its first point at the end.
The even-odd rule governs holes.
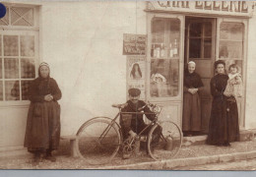
{"type": "Polygon", "coordinates": [[[148,153],[150,154],[150,156],[155,160],[159,160],[161,159],[162,156],[159,156],[160,151],[158,150],[163,149],[164,148],[163,146],[166,145],[165,143],[168,143],[169,141],[169,135],[172,136],[174,134],[176,135],[174,136],[175,142],[178,141],[178,144],[176,145],[177,148],[175,149],[173,148],[173,152],[169,153],[169,157],[177,153],[182,143],[181,131],[179,127],[171,121],[166,121],[166,123],[164,124],[162,124],[159,121],[159,116],[161,112],[160,106],[156,104],[146,104],[143,107],[139,108],[137,112],[128,112],[128,111],[124,112],[122,110],[126,105],[127,105],[126,103],[112,105],[113,107],[117,107],[119,110],[117,114],[114,116],[114,118],[109,118],[104,116],[95,117],[85,122],[80,127],[77,133],[77,136],[78,136],[77,148],[78,148],[79,154],[82,157],[89,158],[89,161],[92,164],[98,164],[98,161],[94,159],[94,157],[90,156],[90,153],[96,150],[96,155],[99,155],[100,159],[102,158],[103,160],[101,162],[104,163],[104,162],[107,162],[108,160],[111,160],[120,148],[123,150],[123,153],[131,152],[131,150],[137,149],[136,148],[137,144],[135,141],[143,141],[146,143],[148,153]],[[147,105],[149,105],[152,112],[143,112],[144,107],[147,105]],[[119,121],[117,121],[118,118],[125,119],[125,117],[121,117],[121,115],[123,116],[124,114],[127,115],[128,120],[136,118],[136,115],[141,115],[141,116],[138,116],[140,117],[140,119],[142,118],[143,114],[154,115],[154,116],[151,116],[153,119],[150,117],[152,120],[150,120],[150,122],[147,125],[142,127],[143,130],[140,129],[140,132],[136,132],[137,133],[137,135],[135,134],[136,136],[133,136],[133,137],[130,136],[127,140],[124,140],[122,135],[122,127],[119,125],[119,121]],[[96,129],[97,130],[96,134],[90,134],[91,131],[95,130],[93,129],[93,125],[100,126],[98,127],[99,129],[96,129]],[[173,127],[174,131],[170,130],[170,127],[172,126],[174,126],[173,127]],[[158,137],[155,135],[157,135],[158,137]],[[156,142],[156,140],[159,141],[159,136],[160,136],[160,142],[156,142]],[[166,139],[166,137],[168,137],[168,139],[166,139]],[[141,138],[146,138],[146,139],[141,139],[141,138]],[[157,148],[157,153],[155,154],[154,151],[156,152],[156,148],[155,148],[156,145],[160,147],[157,148]],[[153,148],[153,151],[152,151],[152,148],[153,148]],[[99,153],[101,152],[105,153],[104,155],[108,156],[109,158],[106,158],[104,155],[100,156],[99,153]]]}

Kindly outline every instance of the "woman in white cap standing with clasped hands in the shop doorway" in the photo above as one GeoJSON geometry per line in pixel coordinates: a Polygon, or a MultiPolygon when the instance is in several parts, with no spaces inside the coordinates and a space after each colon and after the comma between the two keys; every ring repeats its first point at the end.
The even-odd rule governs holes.
{"type": "Polygon", "coordinates": [[[196,63],[190,61],[184,75],[182,120],[184,136],[197,135],[201,131],[201,104],[198,92],[203,89],[204,85],[195,69],[196,63]]]}

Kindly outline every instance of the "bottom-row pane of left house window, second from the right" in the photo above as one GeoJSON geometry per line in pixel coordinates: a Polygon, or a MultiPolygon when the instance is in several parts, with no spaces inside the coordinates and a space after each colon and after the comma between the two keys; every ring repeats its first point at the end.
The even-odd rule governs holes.
{"type": "Polygon", "coordinates": [[[20,100],[20,82],[5,82],[5,98],[6,100],[20,100]]]}

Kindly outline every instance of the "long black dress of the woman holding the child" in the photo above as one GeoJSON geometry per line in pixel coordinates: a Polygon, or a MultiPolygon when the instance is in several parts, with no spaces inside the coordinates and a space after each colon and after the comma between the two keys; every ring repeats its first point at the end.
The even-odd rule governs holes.
{"type": "Polygon", "coordinates": [[[224,96],[228,76],[218,74],[211,80],[213,95],[207,144],[223,146],[239,141],[237,105],[234,97],[224,96]]]}

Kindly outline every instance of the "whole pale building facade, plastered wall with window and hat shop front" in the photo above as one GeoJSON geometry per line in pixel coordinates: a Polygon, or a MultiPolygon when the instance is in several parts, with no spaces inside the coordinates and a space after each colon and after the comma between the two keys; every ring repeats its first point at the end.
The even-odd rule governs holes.
{"type": "Polygon", "coordinates": [[[75,135],[139,88],[162,106],[160,118],[182,127],[184,69],[196,63],[202,133],[208,132],[214,62],[236,64],[243,94],[239,126],[256,129],[254,2],[13,2],[0,19],[0,151],[22,148],[38,64],[51,66],[63,97],[61,135],[75,135]],[[58,13],[56,13],[58,12],[58,13]],[[94,16],[93,16],[93,15],[94,16]],[[248,37],[250,36],[250,37],[248,37]]]}

